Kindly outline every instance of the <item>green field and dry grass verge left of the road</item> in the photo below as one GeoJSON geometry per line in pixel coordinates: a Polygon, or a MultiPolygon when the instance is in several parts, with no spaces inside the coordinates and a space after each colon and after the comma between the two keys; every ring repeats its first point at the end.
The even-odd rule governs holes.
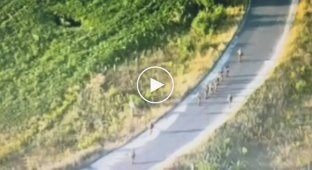
{"type": "Polygon", "coordinates": [[[171,106],[138,98],[137,73],[168,68],[180,99],[222,53],[244,4],[1,1],[0,169],[63,167],[120,145],[171,106]]]}

